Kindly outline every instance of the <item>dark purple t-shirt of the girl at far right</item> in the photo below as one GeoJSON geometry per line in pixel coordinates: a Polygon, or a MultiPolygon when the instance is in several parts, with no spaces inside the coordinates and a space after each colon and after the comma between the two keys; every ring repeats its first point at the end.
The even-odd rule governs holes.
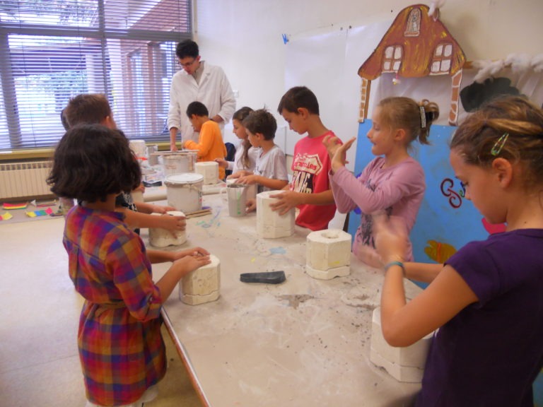
{"type": "Polygon", "coordinates": [[[442,326],[417,407],[532,407],[543,365],[543,230],[471,242],[447,264],[479,302],[442,326]]]}

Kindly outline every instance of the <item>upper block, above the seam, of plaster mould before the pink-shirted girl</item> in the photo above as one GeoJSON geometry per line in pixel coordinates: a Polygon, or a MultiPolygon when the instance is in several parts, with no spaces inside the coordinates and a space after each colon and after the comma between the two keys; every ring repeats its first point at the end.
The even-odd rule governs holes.
{"type": "Polygon", "coordinates": [[[351,264],[351,235],[339,229],[311,232],[306,245],[307,265],[327,271],[351,264]]]}

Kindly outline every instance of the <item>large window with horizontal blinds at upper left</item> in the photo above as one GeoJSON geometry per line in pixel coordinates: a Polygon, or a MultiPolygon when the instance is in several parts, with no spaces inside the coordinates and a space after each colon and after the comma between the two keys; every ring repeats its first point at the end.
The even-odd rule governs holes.
{"type": "Polygon", "coordinates": [[[60,112],[104,93],[129,138],[168,140],[175,45],[190,0],[0,1],[0,150],[54,146],[60,112]]]}

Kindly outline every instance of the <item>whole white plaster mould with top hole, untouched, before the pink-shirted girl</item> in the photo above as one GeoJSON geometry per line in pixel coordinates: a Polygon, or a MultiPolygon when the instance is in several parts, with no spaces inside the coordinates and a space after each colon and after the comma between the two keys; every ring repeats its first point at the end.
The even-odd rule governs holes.
{"type": "Polygon", "coordinates": [[[340,229],[317,230],[307,239],[305,271],[330,280],[351,273],[351,235],[340,229]]]}

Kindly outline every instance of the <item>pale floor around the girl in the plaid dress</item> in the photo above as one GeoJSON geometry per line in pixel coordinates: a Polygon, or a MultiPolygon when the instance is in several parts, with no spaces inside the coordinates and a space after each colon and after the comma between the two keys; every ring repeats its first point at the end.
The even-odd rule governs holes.
{"type": "MultiPolygon", "coordinates": [[[[63,218],[0,222],[0,407],[83,407],[77,353],[82,300],[67,273],[63,218]]],[[[149,407],[199,407],[163,330],[168,373],[149,407]]]]}

